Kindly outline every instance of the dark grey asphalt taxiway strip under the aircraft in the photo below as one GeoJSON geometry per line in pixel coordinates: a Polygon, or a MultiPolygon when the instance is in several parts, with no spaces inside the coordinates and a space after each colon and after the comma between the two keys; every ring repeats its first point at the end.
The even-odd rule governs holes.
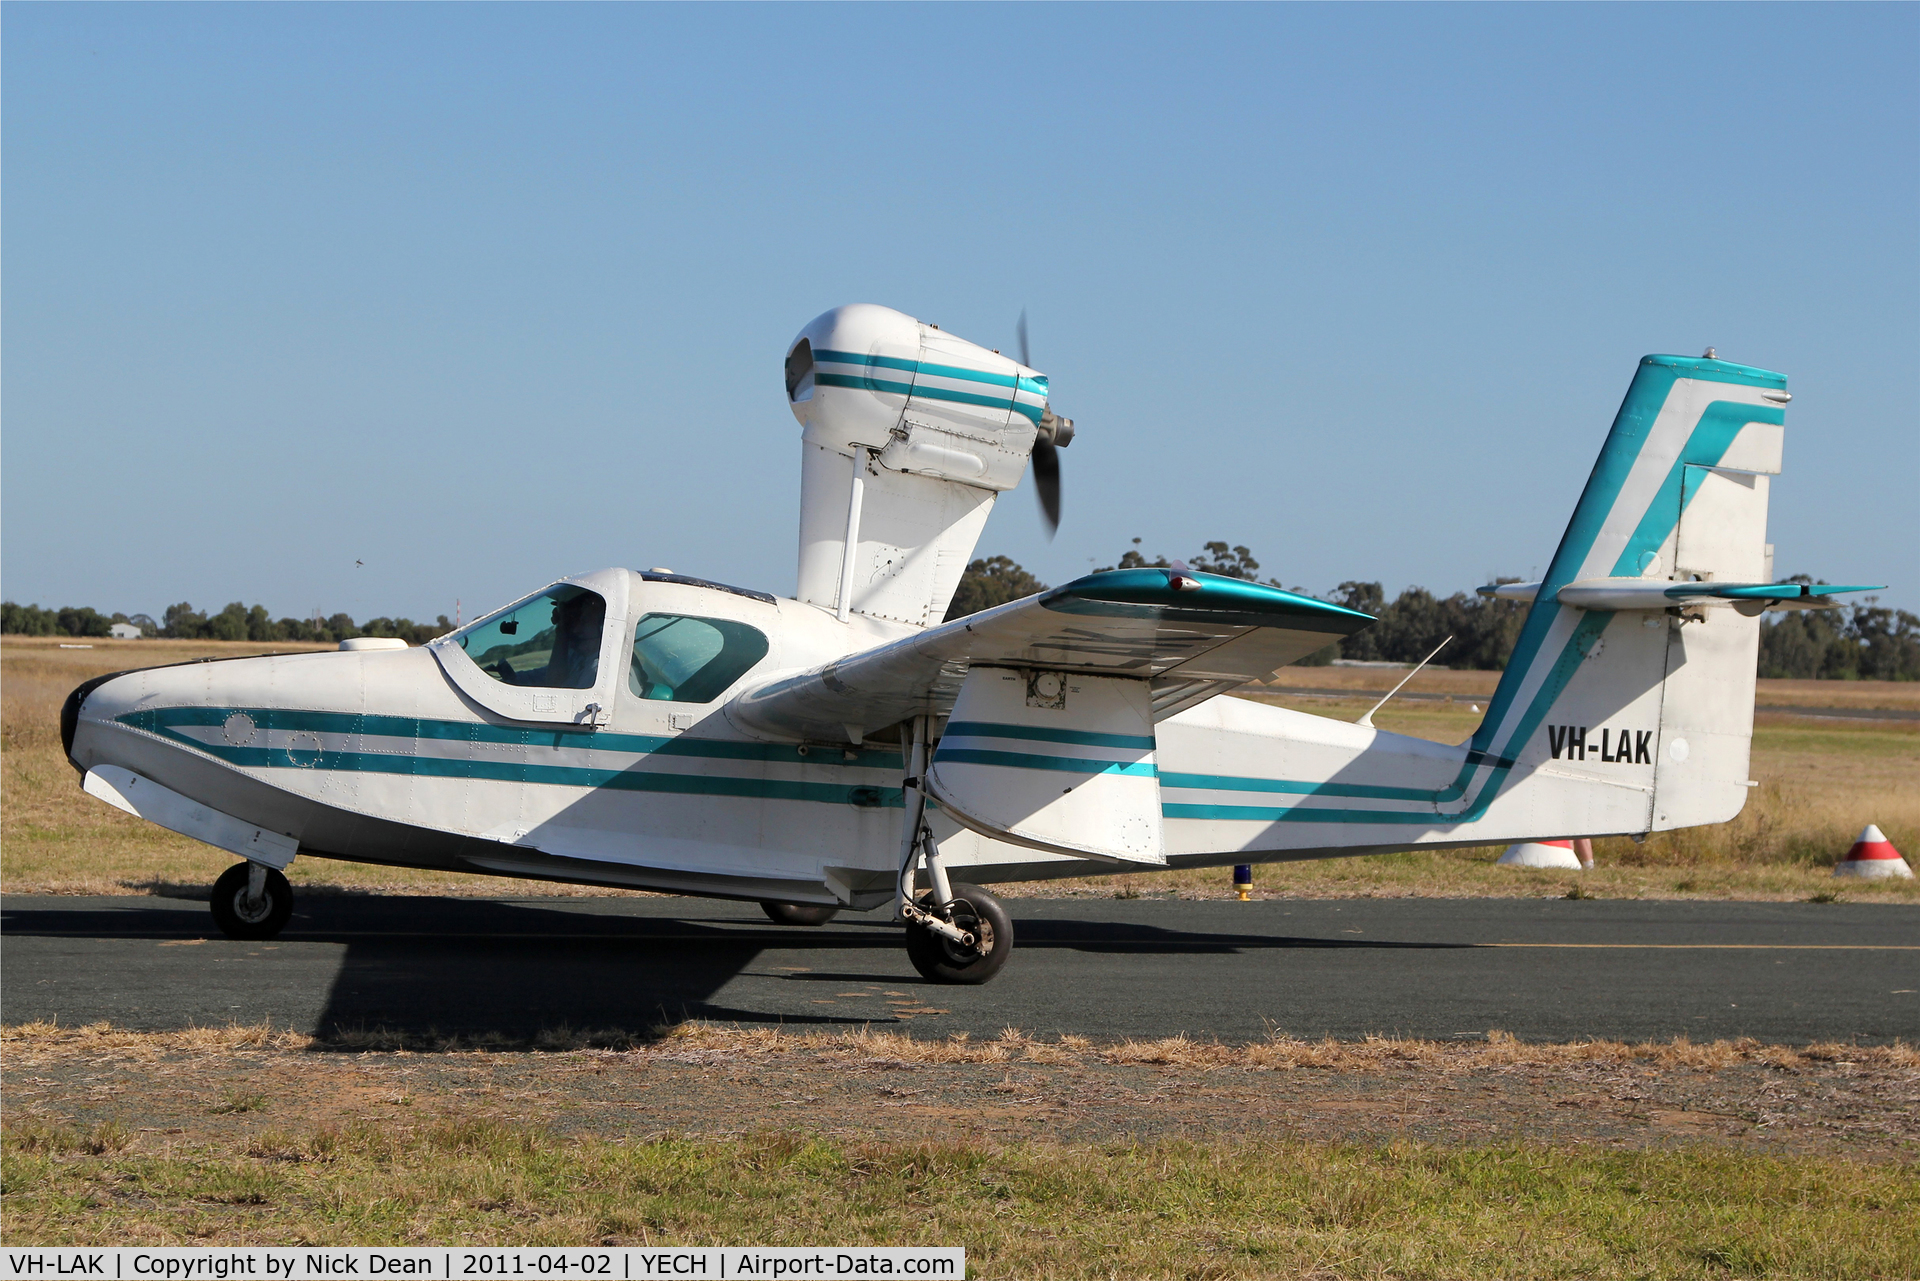
{"type": "Polygon", "coordinates": [[[269,943],[205,903],[0,899],[0,1018],[536,1035],[685,1018],[914,1035],[1920,1039],[1920,906],[1563,899],[1008,899],[983,987],[920,979],[885,912],[301,895],[269,943]]]}

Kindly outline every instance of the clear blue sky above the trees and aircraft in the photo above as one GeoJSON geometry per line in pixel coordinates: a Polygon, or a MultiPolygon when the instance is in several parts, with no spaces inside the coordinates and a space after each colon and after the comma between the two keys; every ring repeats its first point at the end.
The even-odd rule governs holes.
{"type": "Polygon", "coordinates": [[[8,4],[0,590],[793,590],[781,357],[1031,315],[1048,582],[1551,555],[1634,361],[1786,371],[1782,574],[1920,609],[1920,8],[8,4]],[[365,561],[355,567],[355,561],[365,561]]]}

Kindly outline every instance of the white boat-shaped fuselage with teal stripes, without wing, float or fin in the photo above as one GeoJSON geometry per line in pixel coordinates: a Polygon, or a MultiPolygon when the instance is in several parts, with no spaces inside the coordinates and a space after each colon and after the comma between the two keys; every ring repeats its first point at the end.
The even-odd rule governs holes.
{"type": "MultiPolygon", "coordinates": [[[[150,668],[86,695],[71,757],[131,770],[313,857],[860,908],[887,901],[900,849],[899,745],[770,741],[726,709],[743,689],[916,628],[839,622],[816,605],[628,570],[572,582],[620,603],[605,622],[607,653],[628,645],[632,620],[662,613],[751,624],[768,653],[707,703],[639,697],[624,663],[603,663],[595,686],[564,691],[543,722],[480,703],[470,691],[490,695],[488,678],[476,682],[478,668],[444,641],[150,668]]],[[[501,686],[501,697],[520,693],[501,686]]],[[[1173,866],[1647,828],[1649,787],[1607,786],[1617,770],[1597,761],[1532,764],[1524,797],[1492,786],[1476,803],[1455,786],[1473,774],[1465,747],[1246,699],[1212,699],[1160,722],[1156,737],[1173,866]],[[1565,805],[1542,805],[1542,787],[1563,791],[1565,805]]],[[[995,841],[939,812],[933,830],[964,880],[1116,870],[995,841]]]]}

